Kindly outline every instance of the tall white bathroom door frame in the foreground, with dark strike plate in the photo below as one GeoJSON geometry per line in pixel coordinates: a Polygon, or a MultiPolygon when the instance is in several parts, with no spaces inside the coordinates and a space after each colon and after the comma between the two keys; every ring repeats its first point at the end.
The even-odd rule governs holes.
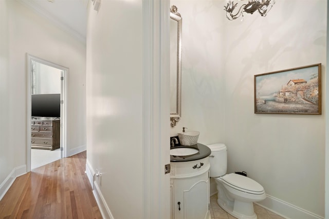
{"type": "Polygon", "coordinates": [[[169,1],[143,1],[143,218],[170,218],[169,1]]]}

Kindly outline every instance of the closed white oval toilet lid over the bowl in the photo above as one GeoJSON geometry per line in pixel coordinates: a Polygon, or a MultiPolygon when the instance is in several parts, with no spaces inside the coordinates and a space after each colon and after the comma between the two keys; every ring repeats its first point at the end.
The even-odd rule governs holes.
{"type": "Polygon", "coordinates": [[[247,176],[230,173],[221,177],[224,183],[237,190],[252,194],[263,194],[264,188],[261,184],[247,176]]]}

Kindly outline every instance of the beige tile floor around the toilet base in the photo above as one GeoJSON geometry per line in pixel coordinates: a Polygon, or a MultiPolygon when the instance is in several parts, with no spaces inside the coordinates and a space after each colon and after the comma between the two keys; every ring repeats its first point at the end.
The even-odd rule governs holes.
{"type": "MultiPolygon", "coordinates": [[[[262,208],[259,205],[253,205],[254,211],[257,214],[258,219],[284,219],[271,211],[268,211],[262,208]]],[[[217,204],[217,194],[214,194],[210,197],[210,215],[211,219],[235,219],[226,211],[224,211],[220,206],[217,204]]]]}

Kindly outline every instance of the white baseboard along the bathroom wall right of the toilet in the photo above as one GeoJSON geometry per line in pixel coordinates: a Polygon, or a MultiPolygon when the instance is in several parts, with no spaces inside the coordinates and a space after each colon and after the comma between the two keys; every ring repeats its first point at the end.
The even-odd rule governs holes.
{"type": "Polygon", "coordinates": [[[309,212],[295,205],[291,205],[270,195],[266,195],[264,201],[255,204],[287,219],[324,219],[324,217],[320,215],[309,212]]]}

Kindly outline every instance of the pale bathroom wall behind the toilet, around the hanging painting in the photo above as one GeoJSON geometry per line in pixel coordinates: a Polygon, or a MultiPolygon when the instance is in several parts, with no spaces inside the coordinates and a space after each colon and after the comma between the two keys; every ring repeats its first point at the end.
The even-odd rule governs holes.
{"type": "Polygon", "coordinates": [[[322,63],[325,91],[326,1],[277,2],[265,19],[246,15],[224,31],[229,172],[244,170],[268,195],[324,216],[324,115],[254,114],[253,75],[322,63]]]}

